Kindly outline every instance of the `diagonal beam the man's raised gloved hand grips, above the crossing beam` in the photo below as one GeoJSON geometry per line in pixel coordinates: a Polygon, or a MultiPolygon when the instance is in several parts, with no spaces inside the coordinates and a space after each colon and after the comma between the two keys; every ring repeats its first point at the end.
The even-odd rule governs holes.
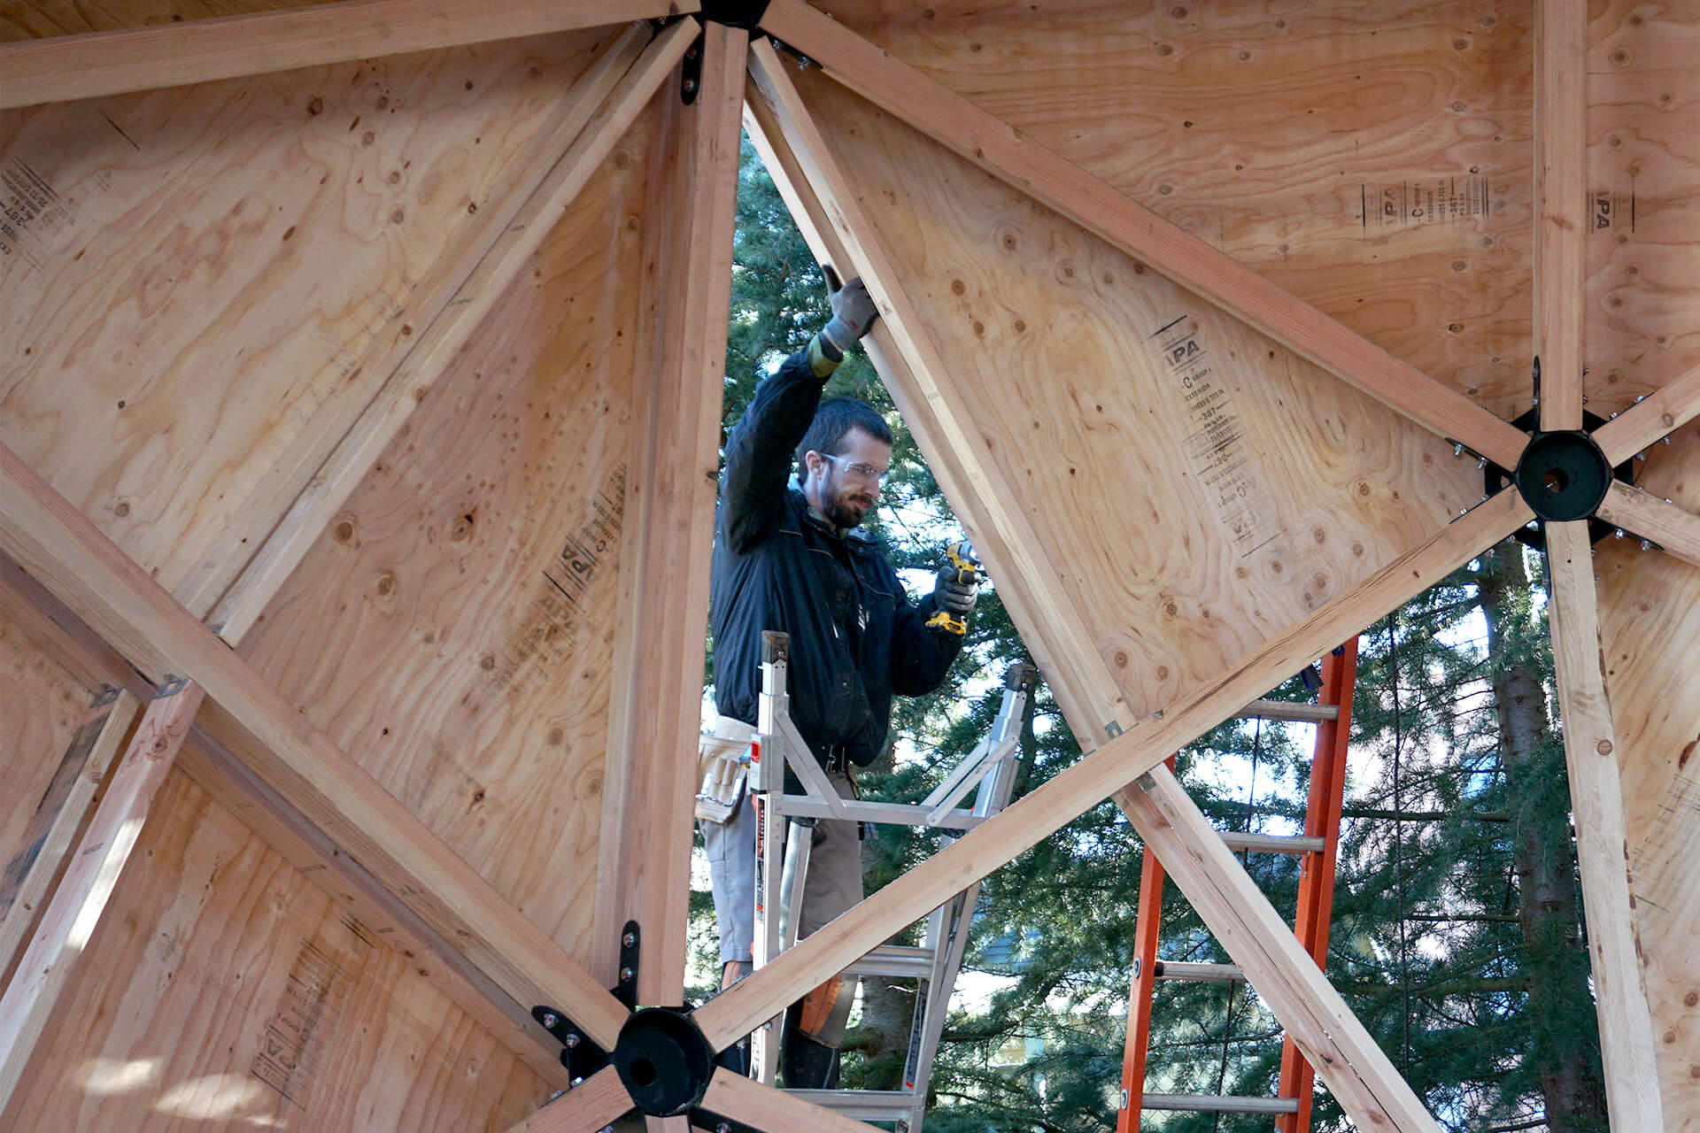
{"type": "Polygon", "coordinates": [[[835,255],[845,279],[852,273],[862,277],[879,306],[881,319],[874,324],[879,358],[899,358],[904,367],[906,380],[889,386],[898,411],[921,442],[933,474],[991,576],[1003,583],[1000,593],[1017,623],[1047,627],[1046,634],[1028,635],[1027,642],[1069,719],[1095,720],[1095,730],[1081,739],[1105,739],[1130,722],[1132,710],[1098,657],[1096,635],[1066,598],[1069,572],[1046,554],[1047,542],[1018,503],[1008,462],[993,454],[974,426],[971,406],[950,380],[921,316],[903,292],[896,265],[872,234],[843,170],[767,41],[751,44],[750,75],[760,93],[756,102],[765,104],[772,119],[772,132],[784,139],[831,223],[833,241],[826,243],[826,233],[821,233],[823,245],[835,255]]]}

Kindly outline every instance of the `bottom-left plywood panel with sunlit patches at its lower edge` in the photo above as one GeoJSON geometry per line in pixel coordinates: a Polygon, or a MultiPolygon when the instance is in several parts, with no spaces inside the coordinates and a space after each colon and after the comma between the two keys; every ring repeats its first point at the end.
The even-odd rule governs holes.
{"type": "Polygon", "coordinates": [[[53,1130],[505,1130],[530,1070],[173,773],[7,1114],[53,1130]]]}

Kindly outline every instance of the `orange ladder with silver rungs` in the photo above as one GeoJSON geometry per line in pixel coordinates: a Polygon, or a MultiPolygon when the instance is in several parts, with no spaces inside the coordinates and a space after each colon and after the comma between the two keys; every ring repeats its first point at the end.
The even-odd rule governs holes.
{"type": "MultiPolygon", "coordinates": [[[[1299,909],[1294,933],[1318,967],[1328,961],[1328,924],[1334,907],[1334,863],[1340,851],[1340,809],[1346,785],[1346,741],[1352,736],[1352,691],[1358,674],[1358,639],[1323,657],[1323,688],[1316,710],[1316,751],[1311,761],[1311,795],[1302,836],[1222,834],[1229,849],[1299,854],[1299,909]]],[[[1284,719],[1280,707],[1258,702],[1243,717],[1284,719]]],[[[1292,717],[1285,717],[1292,719],[1292,717]]],[[[1175,758],[1170,758],[1175,766],[1175,758]]],[[[1158,960],[1163,919],[1163,863],[1146,849],[1139,868],[1139,919],[1134,927],[1134,975],[1129,989],[1127,1046],[1122,1055],[1122,1106],[1115,1133],[1136,1133],[1148,1109],[1265,1113],[1278,1133],[1309,1133],[1316,1074],[1294,1045],[1282,1038],[1280,1087],[1275,1097],[1222,1094],[1148,1094],[1146,1051],[1151,1045],[1151,992],[1158,980],[1216,980],[1243,984],[1231,963],[1176,963],[1158,960]]]]}

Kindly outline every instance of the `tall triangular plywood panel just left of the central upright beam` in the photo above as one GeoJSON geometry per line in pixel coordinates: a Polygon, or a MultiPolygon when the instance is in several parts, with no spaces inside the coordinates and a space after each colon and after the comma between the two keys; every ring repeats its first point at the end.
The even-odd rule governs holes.
{"type": "Polygon", "coordinates": [[[241,645],[575,956],[653,129],[646,112],[241,645]]]}

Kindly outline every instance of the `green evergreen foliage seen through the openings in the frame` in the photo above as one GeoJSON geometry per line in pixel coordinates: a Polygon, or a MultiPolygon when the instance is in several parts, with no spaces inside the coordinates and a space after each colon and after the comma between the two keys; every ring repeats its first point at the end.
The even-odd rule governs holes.
{"type": "MultiPolygon", "coordinates": [[[[728,426],[756,380],[830,316],[821,273],[748,144],[734,258],[728,426]]],[[[828,391],[864,397],[891,421],[892,474],[870,528],[899,571],[932,572],[957,528],[862,352],[828,391]]],[[[1360,640],[1328,975],[1448,1130],[1605,1128],[1545,640],[1540,595],[1515,544],[1360,640]],[[1520,730],[1511,708],[1538,717],[1538,727],[1520,730]]],[[[986,736],[1003,668],[1023,659],[993,579],[949,683],[894,705],[903,758],[887,754],[862,776],[864,795],[921,798],[986,736]]],[[[1311,698],[1297,678],[1270,695],[1311,698]]],[[[1229,722],[1180,753],[1178,773],[1221,829],[1299,832],[1309,734],[1229,722]]],[[[1017,797],[1078,758],[1040,681],[1017,797]]],[[[933,832],[879,827],[864,849],[867,890],[937,846],[933,832]]],[[[1290,912],[1297,860],[1244,861],[1275,907],[1290,912]]],[[[930,1131],[1114,1128],[1139,865],[1137,836],[1103,803],[986,880],[966,967],[1003,977],[1003,987],[983,1009],[954,1011],[933,1068],[930,1131]]],[[[695,909],[712,921],[706,899],[695,909]]],[[[1166,960],[1227,960],[1173,883],[1161,936],[1166,960]]],[[[697,938],[712,941],[712,924],[699,922],[697,938]]],[[[843,1084],[892,1089],[913,989],[872,984],[864,982],[843,1084]]],[[[1148,1089],[1273,1096],[1280,1026],[1248,989],[1164,982],[1154,1019],[1148,1089]]],[[[1146,1128],[1261,1131],[1270,1119],[1176,1113],[1148,1118],[1146,1128]]],[[[1352,1128],[1321,1085],[1312,1128],[1352,1128]]]]}

